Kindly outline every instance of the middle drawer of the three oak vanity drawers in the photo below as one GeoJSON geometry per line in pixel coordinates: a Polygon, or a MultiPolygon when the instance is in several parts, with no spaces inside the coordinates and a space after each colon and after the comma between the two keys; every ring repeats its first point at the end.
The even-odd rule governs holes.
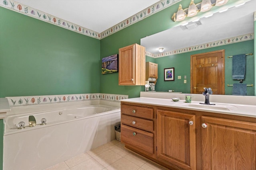
{"type": "Polygon", "coordinates": [[[142,129],[145,131],[153,131],[153,121],[147,119],[141,119],[134,116],[121,115],[122,124],[142,129]]]}

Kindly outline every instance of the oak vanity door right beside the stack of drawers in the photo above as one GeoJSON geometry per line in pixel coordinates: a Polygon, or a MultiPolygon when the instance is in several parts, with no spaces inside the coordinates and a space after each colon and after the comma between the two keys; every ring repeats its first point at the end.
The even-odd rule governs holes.
{"type": "Polygon", "coordinates": [[[158,160],[179,169],[196,170],[194,123],[195,115],[157,109],[158,160]]]}

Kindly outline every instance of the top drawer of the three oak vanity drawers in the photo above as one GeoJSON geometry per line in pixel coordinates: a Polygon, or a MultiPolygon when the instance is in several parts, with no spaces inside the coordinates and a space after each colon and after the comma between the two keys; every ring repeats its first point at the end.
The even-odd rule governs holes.
{"type": "Polygon", "coordinates": [[[141,118],[145,118],[145,119],[153,119],[153,109],[152,108],[122,104],[121,105],[121,113],[125,114],[125,115],[141,117],[141,118]]]}

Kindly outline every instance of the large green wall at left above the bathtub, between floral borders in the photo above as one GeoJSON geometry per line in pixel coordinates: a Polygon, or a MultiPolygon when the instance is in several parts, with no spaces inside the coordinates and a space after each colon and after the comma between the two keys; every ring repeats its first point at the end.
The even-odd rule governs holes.
{"type": "Polygon", "coordinates": [[[100,92],[100,40],[0,7],[0,97],[100,92]]]}

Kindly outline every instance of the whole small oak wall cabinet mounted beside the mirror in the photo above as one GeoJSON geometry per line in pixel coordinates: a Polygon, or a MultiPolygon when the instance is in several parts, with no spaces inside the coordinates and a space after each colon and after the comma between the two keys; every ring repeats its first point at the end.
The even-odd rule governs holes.
{"type": "Polygon", "coordinates": [[[145,47],[133,44],[119,49],[118,85],[145,85],[145,47]]]}

